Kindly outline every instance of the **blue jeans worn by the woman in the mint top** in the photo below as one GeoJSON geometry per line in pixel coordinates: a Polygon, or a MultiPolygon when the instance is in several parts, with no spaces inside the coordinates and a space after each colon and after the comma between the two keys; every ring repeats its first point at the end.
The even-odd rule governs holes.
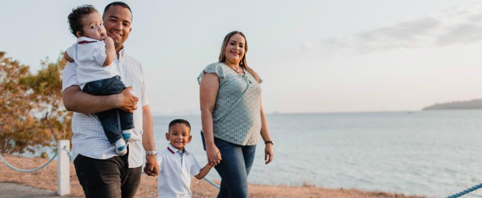
{"type": "MultiPolygon", "coordinates": [[[[206,149],[203,138],[204,149],[206,149]]],[[[221,163],[214,168],[221,176],[218,198],[247,198],[247,176],[254,161],[254,146],[241,146],[214,138],[214,144],[221,152],[221,163]]]]}

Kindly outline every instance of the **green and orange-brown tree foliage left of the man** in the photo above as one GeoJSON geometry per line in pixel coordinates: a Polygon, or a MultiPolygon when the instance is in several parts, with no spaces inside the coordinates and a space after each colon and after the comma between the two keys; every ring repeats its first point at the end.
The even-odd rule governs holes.
{"type": "Polygon", "coordinates": [[[37,74],[0,51],[0,151],[34,152],[72,137],[72,112],[62,103],[65,59],[42,61],[37,74]]]}

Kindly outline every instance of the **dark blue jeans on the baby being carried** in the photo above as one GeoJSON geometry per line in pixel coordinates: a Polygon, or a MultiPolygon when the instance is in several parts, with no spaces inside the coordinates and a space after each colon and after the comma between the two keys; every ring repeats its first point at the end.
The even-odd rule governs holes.
{"type": "MultiPolygon", "coordinates": [[[[107,96],[112,94],[119,94],[126,86],[120,80],[119,76],[109,79],[93,81],[85,84],[82,91],[96,96],[107,96]]],[[[104,128],[105,136],[109,139],[111,144],[122,138],[122,131],[119,130],[119,123],[117,114],[120,117],[121,129],[128,130],[134,128],[134,121],[132,113],[125,112],[118,108],[95,113],[99,118],[102,128],[104,128]]]]}

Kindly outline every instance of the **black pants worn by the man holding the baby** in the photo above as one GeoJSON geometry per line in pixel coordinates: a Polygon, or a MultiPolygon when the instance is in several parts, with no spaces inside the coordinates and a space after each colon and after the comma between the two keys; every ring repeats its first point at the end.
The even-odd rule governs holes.
{"type": "Polygon", "coordinates": [[[78,155],[74,160],[85,198],[133,198],[141,182],[142,166],[128,168],[127,154],[108,159],[78,155]]]}

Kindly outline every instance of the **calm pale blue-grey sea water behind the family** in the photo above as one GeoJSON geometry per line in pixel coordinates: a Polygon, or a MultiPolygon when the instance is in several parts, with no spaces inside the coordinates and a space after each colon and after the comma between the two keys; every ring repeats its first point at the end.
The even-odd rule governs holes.
{"type": "MultiPolygon", "coordinates": [[[[200,116],[155,116],[157,149],[167,145],[168,123],[191,123],[186,149],[201,165],[200,116]]],[[[482,110],[268,114],[274,160],[264,164],[264,144],[248,181],[253,184],[445,197],[482,183],[482,110]]],[[[220,179],[213,169],[207,176],[220,179]]],[[[467,197],[482,197],[482,190],[467,197]]]]}

